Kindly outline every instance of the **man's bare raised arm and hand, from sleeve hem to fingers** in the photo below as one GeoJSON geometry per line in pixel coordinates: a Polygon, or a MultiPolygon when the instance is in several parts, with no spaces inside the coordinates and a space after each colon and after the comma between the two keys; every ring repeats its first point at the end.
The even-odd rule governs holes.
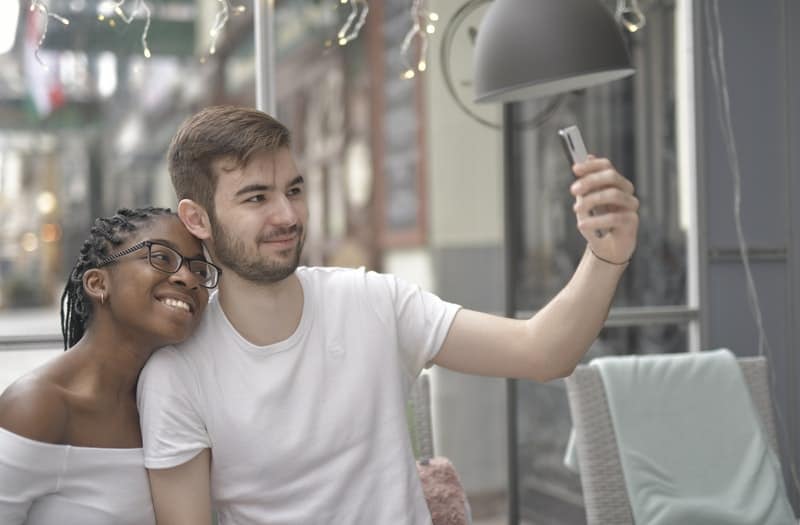
{"type": "Polygon", "coordinates": [[[569,283],[527,320],[461,310],[433,362],[469,374],[549,381],[580,362],[603,328],[636,247],[639,201],[607,159],[573,166],[571,192],[586,251],[569,283]],[[604,213],[593,215],[594,208],[604,213]],[[605,234],[598,236],[597,231],[605,234]]]}

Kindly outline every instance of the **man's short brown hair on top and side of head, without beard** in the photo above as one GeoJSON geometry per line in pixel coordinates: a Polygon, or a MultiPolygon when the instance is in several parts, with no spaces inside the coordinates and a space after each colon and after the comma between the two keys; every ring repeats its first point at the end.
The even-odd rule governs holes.
{"type": "Polygon", "coordinates": [[[235,106],[206,108],[184,121],[167,152],[178,199],[191,199],[212,217],[218,174],[213,164],[229,158],[244,166],[259,151],[289,147],[289,130],[261,111],[235,106]]]}

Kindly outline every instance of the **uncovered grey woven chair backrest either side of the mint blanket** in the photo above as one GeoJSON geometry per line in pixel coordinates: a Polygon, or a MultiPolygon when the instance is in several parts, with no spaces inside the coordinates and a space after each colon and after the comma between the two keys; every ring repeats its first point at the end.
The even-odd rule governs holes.
{"type": "MultiPolygon", "coordinates": [[[[763,357],[747,357],[738,358],[737,362],[768,442],[777,453],[767,361],[763,357]]],[[[632,525],[622,463],[600,373],[596,367],[579,365],[565,382],[587,522],[590,525],[632,525]]]]}

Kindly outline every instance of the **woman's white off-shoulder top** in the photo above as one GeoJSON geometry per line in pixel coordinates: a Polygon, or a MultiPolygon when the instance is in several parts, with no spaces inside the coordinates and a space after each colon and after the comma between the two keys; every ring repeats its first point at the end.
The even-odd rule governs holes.
{"type": "Polygon", "coordinates": [[[54,445],[0,428],[3,525],[155,525],[141,448],[54,445]]]}

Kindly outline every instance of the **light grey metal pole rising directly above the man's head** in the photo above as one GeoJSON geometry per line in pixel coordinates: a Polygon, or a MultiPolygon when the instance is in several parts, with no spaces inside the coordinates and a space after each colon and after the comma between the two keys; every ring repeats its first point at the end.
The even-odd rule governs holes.
{"type": "Polygon", "coordinates": [[[256,38],[256,108],[275,115],[275,0],[253,2],[256,38]]]}

